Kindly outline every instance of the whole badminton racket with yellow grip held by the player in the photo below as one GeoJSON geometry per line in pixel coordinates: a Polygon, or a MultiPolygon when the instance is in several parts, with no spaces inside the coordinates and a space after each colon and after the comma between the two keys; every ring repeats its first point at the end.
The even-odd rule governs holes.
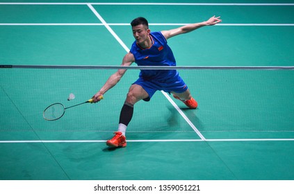
{"type": "MultiPolygon", "coordinates": [[[[100,96],[100,100],[102,100],[102,99],[103,99],[103,96],[100,96]]],[[[83,105],[85,103],[93,103],[93,99],[91,98],[90,100],[87,100],[84,103],[79,103],[79,104],[73,105],[71,107],[65,107],[61,103],[54,103],[52,105],[49,105],[49,107],[47,107],[46,109],[44,109],[43,117],[47,121],[56,121],[57,119],[63,117],[66,109],[76,107],[79,105],[83,105]]]]}

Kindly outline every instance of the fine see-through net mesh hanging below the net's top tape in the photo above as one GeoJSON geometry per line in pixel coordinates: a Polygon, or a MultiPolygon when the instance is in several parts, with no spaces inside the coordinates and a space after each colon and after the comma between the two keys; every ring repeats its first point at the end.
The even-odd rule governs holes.
{"type": "MultiPolygon", "coordinates": [[[[68,109],[57,121],[42,113],[52,103],[65,107],[91,98],[117,69],[0,69],[1,130],[117,130],[120,110],[139,69],[128,69],[99,103],[68,109]],[[74,100],[67,100],[69,94],[74,100]]],[[[293,132],[294,71],[178,69],[197,100],[188,109],[174,100],[200,132],[293,132]]],[[[161,91],[135,105],[128,132],[193,132],[161,91]]]]}

